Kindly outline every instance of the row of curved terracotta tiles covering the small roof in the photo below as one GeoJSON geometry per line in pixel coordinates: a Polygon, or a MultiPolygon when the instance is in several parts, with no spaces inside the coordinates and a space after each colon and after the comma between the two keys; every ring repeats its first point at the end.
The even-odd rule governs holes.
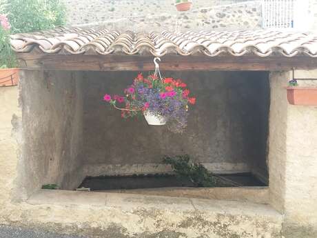
{"type": "Polygon", "coordinates": [[[283,54],[317,57],[317,35],[283,30],[188,31],[135,33],[119,30],[57,28],[11,36],[16,52],[63,54],[206,54],[216,57],[226,53],[241,56],[254,53],[260,57],[283,54]]]}

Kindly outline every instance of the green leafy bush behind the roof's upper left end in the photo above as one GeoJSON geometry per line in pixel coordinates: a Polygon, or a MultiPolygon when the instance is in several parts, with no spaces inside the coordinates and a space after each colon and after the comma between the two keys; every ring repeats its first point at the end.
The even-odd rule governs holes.
{"type": "MultiPolygon", "coordinates": [[[[1,1],[1,0],[0,0],[1,1]]],[[[13,33],[48,30],[65,23],[65,6],[60,0],[2,0],[13,33]]]]}

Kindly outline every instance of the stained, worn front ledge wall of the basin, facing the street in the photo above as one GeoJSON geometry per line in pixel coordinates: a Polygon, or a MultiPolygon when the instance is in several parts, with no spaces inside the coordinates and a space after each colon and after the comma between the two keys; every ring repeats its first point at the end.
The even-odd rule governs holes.
{"type": "Polygon", "coordinates": [[[103,238],[280,238],[283,221],[268,205],[185,197],[41,190],[28,204],[41,226],[103,238]]]}

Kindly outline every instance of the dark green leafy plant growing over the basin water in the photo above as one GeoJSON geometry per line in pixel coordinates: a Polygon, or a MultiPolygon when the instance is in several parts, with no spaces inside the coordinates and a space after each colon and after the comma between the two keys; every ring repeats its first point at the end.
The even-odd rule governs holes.
{"type": "Polygon", "coordinates": [[[189,155],[164,157],[163,163],[170,164],[179,179],[190,179],[196,187],[214,187],[217,184],[212,172],[209,172],[203,164],[190,161],[189,155]]]}

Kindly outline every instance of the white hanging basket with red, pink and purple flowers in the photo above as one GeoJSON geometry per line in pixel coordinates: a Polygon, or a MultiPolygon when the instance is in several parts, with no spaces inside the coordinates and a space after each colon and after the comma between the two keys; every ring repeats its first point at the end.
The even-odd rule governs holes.
{"type": "Polygon", "coordinates": [[[123,118],[141,115],[149,125],[167,123],[172,132],[183,132],[187,126],[189,104],[196,103],[186,87],[181,79],[139,74],[124,90],[125,96],[106,94],[103,100],[121,110],[123,118]]]}

